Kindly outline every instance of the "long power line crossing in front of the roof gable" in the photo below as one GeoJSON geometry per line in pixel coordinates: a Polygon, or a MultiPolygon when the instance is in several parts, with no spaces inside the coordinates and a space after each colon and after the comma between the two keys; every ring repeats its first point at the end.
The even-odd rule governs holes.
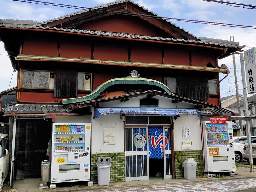
{"type": "Polygon", "coordinates": [[[50,5],[56,7],[65,7],[71,9],[79,9],[79,10],[87,10],[87,11],[96,11],[96,12],[108,12],[108,13],[115,13],[121,15],[130,15],[130,16],[137,16],[137,17],[146,17],[146,18],[155,18],[155,19],[164,19],[164,20],[174,20],[174,21],[182,21],[182,22],[189,22],[189,23],[200,23],[200,24],[208,24],[208,25],[219,25],[219,26],[227,26],[227,27],[238,27],[238,28],[251,28],[256,29],[256,26],[248,26],[248,25],[238,25],[238,24],[229,24],[229,23],[218,23],[218,22],[210,22],[210,21],[201,21],[201,20],[189,20],[189,19],[179,19],[179,18],[171,18],[171,17],[161,17],[158,15],[147,15],[147,14],[137,14],[137,13],[129,13],[129,12],[119,12],[119,11],[112,11],[112,10],[104,10],[98,8],[89,8],[89,7],[81,7],[75,5],[67,5],[67,4],[57,4],[45,1],[36,1],[36,0],[11,0],[11,1],[19,1],[25,3],[33,3],[33,4],[40,4],[40,5],[50,5]]]}

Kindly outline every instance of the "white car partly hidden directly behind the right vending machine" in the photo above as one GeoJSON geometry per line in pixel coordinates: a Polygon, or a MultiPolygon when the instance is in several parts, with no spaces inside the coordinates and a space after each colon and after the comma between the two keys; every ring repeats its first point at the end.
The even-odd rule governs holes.
{"type": "Polygon", "coordinates": [[[244,144],[247,141],[247,137],[234,137],[234,151],[235,151],[235,161],[236,163],[239,163],[241,160],[243,160],[244,157],[244,144]]]}

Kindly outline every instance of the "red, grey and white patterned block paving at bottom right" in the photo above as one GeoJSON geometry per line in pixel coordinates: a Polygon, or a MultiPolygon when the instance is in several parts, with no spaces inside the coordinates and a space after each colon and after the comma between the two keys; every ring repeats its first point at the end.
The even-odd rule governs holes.
{"type": "MultiPolygon", "coordinates": [[[[181,185],[163,185],[143,188],[120,188],[112,190],[97,190],[100,192],[231,192],[240,191],[242,189],[255,188],[255,179],[236,179],[236,180],[223,180],[214,182],[202,182],[193,184],[181,184],[181,185]]],[[[91,191],[95,192],[95,191],[91,191]]]]}

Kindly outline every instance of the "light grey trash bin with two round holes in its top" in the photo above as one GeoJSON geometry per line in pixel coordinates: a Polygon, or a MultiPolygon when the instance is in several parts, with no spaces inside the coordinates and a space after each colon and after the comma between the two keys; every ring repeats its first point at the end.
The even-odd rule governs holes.
{"type": "Polygon", "coordinates": [[[98,185],[109,185],[110,181],[110,168],[111,168],[110,157],[99,157],[97,162],[98,167],[98,185]]]}

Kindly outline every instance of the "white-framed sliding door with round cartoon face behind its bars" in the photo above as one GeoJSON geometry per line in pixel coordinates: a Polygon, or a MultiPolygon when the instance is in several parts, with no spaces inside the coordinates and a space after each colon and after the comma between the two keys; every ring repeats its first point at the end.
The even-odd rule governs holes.
{"type": "Polygon", "coordinates": [[[149,180],[148,127],[125,127],[125,180],[149,180]]]}

